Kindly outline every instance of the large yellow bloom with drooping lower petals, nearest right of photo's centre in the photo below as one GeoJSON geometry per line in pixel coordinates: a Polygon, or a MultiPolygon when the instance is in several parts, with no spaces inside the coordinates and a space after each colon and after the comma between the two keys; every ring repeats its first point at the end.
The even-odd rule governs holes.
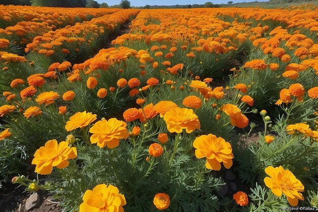
{"type": "Polygon", "coordinates": [[[206,168],[220,170],[221,163],[229,169],[234,158],[232,147],[221,137],[213,134],[201,135],[195,139],[193,146],[196,148],[197,158],[206,158],[206,168]]]}

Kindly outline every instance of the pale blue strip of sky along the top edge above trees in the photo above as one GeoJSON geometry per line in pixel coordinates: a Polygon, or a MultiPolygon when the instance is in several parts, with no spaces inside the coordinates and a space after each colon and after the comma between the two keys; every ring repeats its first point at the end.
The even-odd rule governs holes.
{"type": "MultiPolygon", "coordinates": [[[[120,0],[96,0],[98,3],[106,2],[108,5],[118,5],[120,0]]],[[[212,2],[213,4],[227,4],[230,0],[129,0],[132,6],[145,6],[145,5],[193,5],[204,4],[206,2],[212,2]]],[[[238,2],[255,2],[255,0],[231,0],[234,3],[238,2]]],[[[269,0],[267,0],[269,1],[269,0]]],[[[266,0],[259,0],[259,2],[266,2],[266,0]]]]}

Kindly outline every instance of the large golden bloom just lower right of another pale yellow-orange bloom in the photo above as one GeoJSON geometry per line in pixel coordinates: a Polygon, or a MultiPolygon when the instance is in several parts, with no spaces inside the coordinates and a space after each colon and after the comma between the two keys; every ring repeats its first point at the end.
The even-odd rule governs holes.
{"type": "Polygon", "coordinates": [[[93,135],[90,136],[91,143],[97,143],[101,148],[107,145],[108,148],[115,148],[119,145],[119,139],[128,138],[127,123],[110,118],[100,120],[89,130],[93,135]]]}

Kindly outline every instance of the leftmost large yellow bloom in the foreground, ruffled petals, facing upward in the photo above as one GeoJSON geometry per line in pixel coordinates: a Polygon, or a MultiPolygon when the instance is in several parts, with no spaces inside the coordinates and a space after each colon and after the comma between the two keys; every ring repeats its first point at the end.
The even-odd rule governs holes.
{"type": "Polygon", "coordinates": [[[69,165],[67,160],[77,157],[75,147],[69,147],[67,141],[49,140],[45,146],[41,146],[34,154],[32,164],[36,166],[36,172],[39,174],[52,173],[53,166],[59,169],[66,168],[69,165]]]}

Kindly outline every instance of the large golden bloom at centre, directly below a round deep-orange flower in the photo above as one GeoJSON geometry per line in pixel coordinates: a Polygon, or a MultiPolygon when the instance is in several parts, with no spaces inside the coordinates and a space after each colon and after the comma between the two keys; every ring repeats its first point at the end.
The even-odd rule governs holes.
{"type": "Polygon", "coordinates": [[[196,129],[200,129],[200,121],[192,109],[171,108],[165,113],[164,120],[171,133],[181,133],[183,129],[187,133],[192,133],[196,129]]]}

